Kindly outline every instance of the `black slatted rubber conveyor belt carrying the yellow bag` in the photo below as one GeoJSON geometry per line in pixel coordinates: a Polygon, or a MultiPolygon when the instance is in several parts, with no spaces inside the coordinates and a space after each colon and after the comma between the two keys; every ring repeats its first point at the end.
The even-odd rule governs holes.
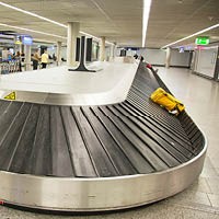
{"type": "Polygon", "coordinates": [[[139,66],[125,102],[56,106],[0,101],[0,170],[47,176],[147,174],[185,163],[204,147],[201,132],[153,104],[155,72],[139,66]]]}

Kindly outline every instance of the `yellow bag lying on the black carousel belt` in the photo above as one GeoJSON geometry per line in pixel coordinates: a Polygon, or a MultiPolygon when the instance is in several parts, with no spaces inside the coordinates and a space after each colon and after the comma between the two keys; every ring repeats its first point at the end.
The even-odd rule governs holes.
{"type": "Polygon", "coordinates": [[[182,102],[175,99],[170,93],[165,92],[163,89],[157,89],[150,96],[150,99],[166,108],[170,113],[178,115],[181,112],[185,110],[185,106],[182,102]]]}

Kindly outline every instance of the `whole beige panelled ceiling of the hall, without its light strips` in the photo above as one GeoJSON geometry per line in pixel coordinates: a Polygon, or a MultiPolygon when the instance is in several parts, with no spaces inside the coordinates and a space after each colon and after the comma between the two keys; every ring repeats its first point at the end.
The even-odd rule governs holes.
{"type": "MultiPolygon", "coordinates": [[[[62,24],[80,22],[80,31],[106,36],[119,46],[141,46],[142,0],[3,0],[2,2],[62,24]]],[[[67,28],[0,5],[0,23],[67,36],[67,28]]],[[[147,47],[161,47],[219,23],[219,0],[152,0],[147,47]]],[[[65,41],[0,25],[43,41],[65,41]]],[[[203,35],[219,41],[219,28],[203,35]]],[[[189,44],[194,38],[182,42],[189,44]]]]}

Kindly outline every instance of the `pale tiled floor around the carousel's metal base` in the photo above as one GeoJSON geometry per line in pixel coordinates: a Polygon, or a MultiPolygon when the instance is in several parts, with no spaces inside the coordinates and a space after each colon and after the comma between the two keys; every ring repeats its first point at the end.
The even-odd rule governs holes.
{"type": "Polygon", "coordinates": [[[187,69],[160,68],[160,77],[182,100],[188,114],[206,134],[208,152],[201,175],[181,194],[150,206],[95,216],[53,216],[0,207],[0,219],[219,219],[219,82],[187,69]]]}

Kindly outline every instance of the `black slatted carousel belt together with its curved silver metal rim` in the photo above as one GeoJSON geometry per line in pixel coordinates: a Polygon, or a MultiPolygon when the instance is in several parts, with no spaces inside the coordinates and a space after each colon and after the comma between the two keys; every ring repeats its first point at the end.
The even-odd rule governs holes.
{"type": "Polygon", "coordinates": [[[200,174],[207,142],[186,112],[152,103],[166,90],[140,62],[125,101],[60,105],[0,100],[0,201],[102,211],[161,200],[200,174]]]}

